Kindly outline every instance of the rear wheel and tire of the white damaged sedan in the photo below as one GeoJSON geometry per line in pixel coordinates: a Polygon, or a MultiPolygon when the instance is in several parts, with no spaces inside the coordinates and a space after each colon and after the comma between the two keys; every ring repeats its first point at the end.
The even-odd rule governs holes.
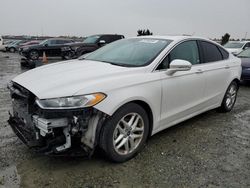
{"type": "Polygon", "coordinates": [[[221,112],[230,112],[233,109],[234,104],[236,102],[238,89],[239,89],[239,86],[237,82],[232,81],[231,84],[227,88],[227,91],[225,93],[221,106],[219,108],[221,112]]]}

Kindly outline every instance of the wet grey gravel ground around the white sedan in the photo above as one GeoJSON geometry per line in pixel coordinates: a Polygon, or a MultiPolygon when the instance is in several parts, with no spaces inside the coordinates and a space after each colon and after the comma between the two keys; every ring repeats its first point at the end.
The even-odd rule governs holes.
{"type": "Polygon", "coordinates": [[[16,54],[0,52],[0,188],[250,187],[250,85],[230,113],[206,112],[149,139],[136,158],[113,164],[32,153],[7,124],[6,84],[23,71],[16,54]]]}

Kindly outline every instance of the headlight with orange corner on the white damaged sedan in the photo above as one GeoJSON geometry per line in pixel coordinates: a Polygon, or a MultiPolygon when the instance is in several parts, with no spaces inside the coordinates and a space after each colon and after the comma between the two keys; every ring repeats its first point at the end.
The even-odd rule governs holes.
{"type": "Polygon", "coordinates": [[[94,93],[54,99],[36,99],[36,103],[42,109],[77,109],[94,106],[105,99],[105,97],[106,95],[103,93],[94,93]]]}

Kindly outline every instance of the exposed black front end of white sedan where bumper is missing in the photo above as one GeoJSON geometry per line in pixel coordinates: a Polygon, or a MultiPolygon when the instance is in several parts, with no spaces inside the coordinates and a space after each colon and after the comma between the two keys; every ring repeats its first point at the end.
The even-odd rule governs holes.
{"type": "Polygon", "coordinates": [[[29,148],[52,155],[93,153],[106,114],[93,107],[44,110],[27,89],[14,82],[8,88],[13,105],[8,123],[29,148]]]}

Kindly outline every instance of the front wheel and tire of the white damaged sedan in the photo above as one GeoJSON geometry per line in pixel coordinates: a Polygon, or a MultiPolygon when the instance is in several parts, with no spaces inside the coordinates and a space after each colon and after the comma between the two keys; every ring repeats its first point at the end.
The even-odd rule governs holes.
{"type": "Polygon", "coordinates": [[[141,151],[148,133],[146,111],[135,103],[128,103],[107,119],[101,131],[99,145],[111,161],[125,162],[141,151]]]}

